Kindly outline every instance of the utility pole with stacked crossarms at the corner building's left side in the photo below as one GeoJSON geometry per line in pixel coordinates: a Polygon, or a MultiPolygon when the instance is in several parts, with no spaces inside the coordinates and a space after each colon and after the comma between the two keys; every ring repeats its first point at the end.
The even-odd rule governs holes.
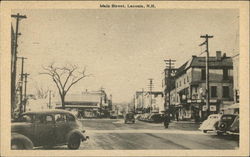
{"type": "MultiPolygon", "coordinates": [[[[176,62],[176,60],[166,59],[164,61],[165,61],[166,65],[167,65],[166,69],[168,70],[168,74],[167,74],[168,106],[165,106],[165,108],[168,107],[168,110],[170,110],[170,104],[171,104],[171,99],[170,99],[171,87],[170,86],[171,86],[171,79],[172,79],[171,72],[172,72],[172,68],[174,68],[174,63],[176,62]]],[[[165,75],[166,75],[166,73],[165,73],[165,75]]],[[[168,112],[168,114],[169,114],[169,112],[168,112]]]]}

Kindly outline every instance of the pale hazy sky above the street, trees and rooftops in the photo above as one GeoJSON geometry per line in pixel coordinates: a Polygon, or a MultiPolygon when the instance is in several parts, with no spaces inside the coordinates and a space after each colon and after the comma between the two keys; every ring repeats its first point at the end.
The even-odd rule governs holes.
{"type": "MultiPolygon", "coordinates": [[[[114,102],[129,102],[135,91],[162,91],[164,59],[175,67],[200,55],[201,35],[209,39],[210,55],[220,50],[237,54],[238,11],[233,9],[37,9],[13,10],[25,14],[20,22],[18,56],[27,57],[28,93],[36,86],[56,87],[42,66],[75,64],[92,74],[73,86],[70,93],[96,91],[101,87],[114,102]]],[[[12,20],[15,28],[15,20],[12,20]]],[[[20,69],[20,61],[18,61],[20,69]]]]}

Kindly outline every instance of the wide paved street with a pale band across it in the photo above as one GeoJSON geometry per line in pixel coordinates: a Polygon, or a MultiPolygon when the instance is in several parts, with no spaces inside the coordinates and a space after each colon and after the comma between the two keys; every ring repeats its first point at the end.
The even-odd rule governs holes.
{"type": "MultiPolygon", "coordinates": [[[[84,150],[141,150],[141,149],[238,149],[239,141],[232,136],[219,137],[204,134],[197,124],[171,123],[169,129],[162,124],[136,121],[124,124],[121,119],[81,120],[90,136],[82,143],[84,150]]],[[[66,146],[54,149],[67,149],[66,146]]]]}

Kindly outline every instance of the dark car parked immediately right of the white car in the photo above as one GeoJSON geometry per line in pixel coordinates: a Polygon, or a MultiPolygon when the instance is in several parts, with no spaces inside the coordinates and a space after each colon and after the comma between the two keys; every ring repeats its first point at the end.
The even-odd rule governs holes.
{"type": "Polygon", "coordinates": [[[224,133],[226,133],[230,129],[230,126],[232,125],[237,116],[238,115],[234,114],[222,115],[216,128],[217,135],[223,135],[224,133]]]}

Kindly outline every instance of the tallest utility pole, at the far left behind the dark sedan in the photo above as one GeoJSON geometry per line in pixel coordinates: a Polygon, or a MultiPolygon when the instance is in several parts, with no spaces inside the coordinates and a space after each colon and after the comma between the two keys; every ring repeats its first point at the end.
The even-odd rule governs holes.
{"type": "Polygon", "coordinates": [[[16,18],[16,32],[15,32],[15,42],[14,42],[14,51],[12,53],[12,62],[11,62],[11,109],[12,109],[12,115],[14,112],[14,106],[16,104],[16,60],[17,60],[17,47],[18,47],[18,28],[19,28],[19,22],[21,19],[27,18],[26,15],[20,15],[19,13],[17,15],[11,15],[12,18],[16,18]]]}

